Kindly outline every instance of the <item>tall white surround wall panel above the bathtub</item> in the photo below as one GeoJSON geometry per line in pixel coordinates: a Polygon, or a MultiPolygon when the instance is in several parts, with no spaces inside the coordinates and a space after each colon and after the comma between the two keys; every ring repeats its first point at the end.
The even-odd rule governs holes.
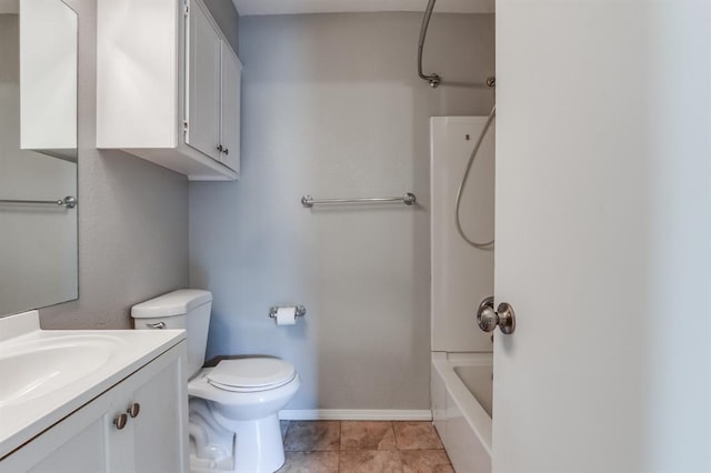
{"type": "MultiPolygon", "coordinates": [[[[431,298],[433,352],[491,352],[491,335],[473,321],[493,294],[493,248],[475,249],[457,232],[454,201],[487,117],[430,119],[431,298]]],[[[461,195],[460,223],[478,241],[493,238],[494,128],[484,135],[461,195]]]]}

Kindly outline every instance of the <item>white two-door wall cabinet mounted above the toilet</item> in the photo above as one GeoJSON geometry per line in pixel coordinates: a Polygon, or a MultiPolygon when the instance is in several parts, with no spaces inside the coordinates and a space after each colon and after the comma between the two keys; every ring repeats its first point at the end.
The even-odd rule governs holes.
{"type": "Polygon", "coordinates": [[[241,64],[201,0],[98,0],[97,148],[239,178],[241,64]]]}

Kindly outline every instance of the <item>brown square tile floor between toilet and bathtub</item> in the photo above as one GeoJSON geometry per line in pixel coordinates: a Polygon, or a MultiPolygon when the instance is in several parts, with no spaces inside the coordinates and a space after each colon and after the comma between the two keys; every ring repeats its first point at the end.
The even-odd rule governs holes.
{"type": "Polygon", "coordinates": [[[282,421],[279,473],[453,473],[431,422],[282,421]]]}

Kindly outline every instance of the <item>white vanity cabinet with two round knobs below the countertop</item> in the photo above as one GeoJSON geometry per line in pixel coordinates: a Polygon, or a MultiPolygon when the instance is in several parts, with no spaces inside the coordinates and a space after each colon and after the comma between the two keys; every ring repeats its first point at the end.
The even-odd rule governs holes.
{"type": "Polygon", "coordinates": [[[184,356],[183,341],[3,459],[0,472],[187,472],[184,356]]]}

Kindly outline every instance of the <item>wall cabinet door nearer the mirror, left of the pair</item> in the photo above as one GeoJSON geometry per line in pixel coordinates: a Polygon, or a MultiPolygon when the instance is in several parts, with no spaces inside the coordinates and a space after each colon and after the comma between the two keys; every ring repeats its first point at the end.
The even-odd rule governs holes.
{"type": "Polygon", "coordinates": [[[190,10],[186,101],[188,130],[186,143],[220,160],[220,54],[221,39],[203,7],[190,10]]]}

